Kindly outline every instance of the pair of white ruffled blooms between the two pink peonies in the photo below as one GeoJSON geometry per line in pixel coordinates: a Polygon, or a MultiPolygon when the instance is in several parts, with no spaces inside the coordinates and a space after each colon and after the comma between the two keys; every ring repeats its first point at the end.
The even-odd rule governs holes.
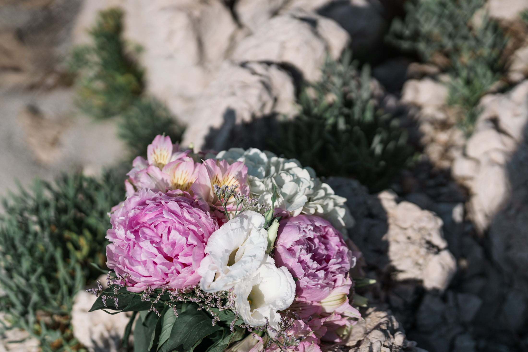
{"type": "Polygon", "coordinates": [[[216,230],[200,263],[200,288],[217,292],[234,287],[235,309],[246,324],[279,328],[278,311],[295,298],[295,281],[286,267],[277,268],[266,254],[265,218],[244,211],[216,230]]]}

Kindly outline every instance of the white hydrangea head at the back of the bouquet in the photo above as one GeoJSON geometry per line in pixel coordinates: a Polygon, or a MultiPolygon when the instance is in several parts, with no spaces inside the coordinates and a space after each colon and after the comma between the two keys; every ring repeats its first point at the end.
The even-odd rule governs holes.
{"type": "Polygon", "coordinates": [[[311,167],[303,168],[296,159],[279,158],[270,151],[256,148],[223,150],[216,159],[229,164],[243,161],[248,167],[248,183],[251,196],[271,207],[271,196],[277,187],[279,207],[290,213],[317,215],[328,220],[343,236],[354,225],[354,218],[345,205],[346,198],[336,195],[333,189],[315,175],[311,167]]]}

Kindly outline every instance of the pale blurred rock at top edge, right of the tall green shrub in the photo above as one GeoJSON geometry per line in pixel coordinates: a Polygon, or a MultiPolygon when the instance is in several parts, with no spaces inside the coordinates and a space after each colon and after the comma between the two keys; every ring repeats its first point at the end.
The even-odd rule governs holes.
{"type": "Polygon", "coordinates": [[[147,87],[190,122],[205,87],[243,33],[220,0],[128,0],[127,39],[145,49],[147,87]]]}

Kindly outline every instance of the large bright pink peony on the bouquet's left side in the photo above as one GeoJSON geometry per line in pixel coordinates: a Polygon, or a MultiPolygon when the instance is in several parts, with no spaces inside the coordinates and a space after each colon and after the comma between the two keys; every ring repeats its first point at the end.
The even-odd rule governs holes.
{"type": "Polygon", "coordinates": [[[195,286],[209,236],[218,230],[209,207],[182,191],[140,189],[111,215],[107,266],[129,274],[129,291],[195,286]]]}

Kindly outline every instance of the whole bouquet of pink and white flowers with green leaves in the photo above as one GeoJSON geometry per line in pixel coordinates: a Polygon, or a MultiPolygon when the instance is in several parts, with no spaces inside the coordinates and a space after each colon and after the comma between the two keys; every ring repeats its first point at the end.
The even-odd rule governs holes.
{"type": "Polygon", "coordinates": [[[329,350],[361,318],[353,219],[313,169],[157,136],[127,175],[107,232],[114,272],[91,310],[133,312],[135,351],[329,350]]]}

